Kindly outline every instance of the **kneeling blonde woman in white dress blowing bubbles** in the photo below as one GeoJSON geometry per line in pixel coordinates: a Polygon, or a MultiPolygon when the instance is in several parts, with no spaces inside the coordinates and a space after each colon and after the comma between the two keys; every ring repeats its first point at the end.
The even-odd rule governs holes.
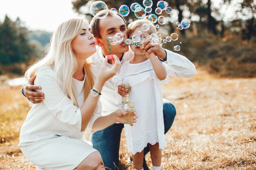
{"type": "MultiPolygon", "coordinates": [[[[20,131],[20,149],[38,169],[104,170],[101,155],[84,138],[84,131],[124,123],[125,110],[101,116],[99,96],[104,83],[121,64],[115,56],[111,69],[105,58],[100,70],[86,59],[96,52],[94,35],[84,18],[63,22],[54,31],[47,55],[25,73],[36,75],[45,99],[33,104],[20,131]]],[[[136,122],[137,115],[134,116],[136,122]]]]}

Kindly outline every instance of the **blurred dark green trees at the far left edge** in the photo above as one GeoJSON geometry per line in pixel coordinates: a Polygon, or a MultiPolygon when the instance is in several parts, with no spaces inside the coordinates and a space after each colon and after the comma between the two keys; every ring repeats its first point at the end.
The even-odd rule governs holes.
{"type": "Polygon", "coordinates": [[[13,22],[6,15],[0,24],[0,64],[25,62],[35,55],[38,54],[29,44],[28,30],[19,18],[13,22]]]}

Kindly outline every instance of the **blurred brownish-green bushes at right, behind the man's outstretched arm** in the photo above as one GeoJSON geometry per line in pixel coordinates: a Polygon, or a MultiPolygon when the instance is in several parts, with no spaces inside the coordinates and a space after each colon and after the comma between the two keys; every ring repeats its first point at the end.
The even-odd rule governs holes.
{"type": "MultiPolygon", "coordinates": [[[[186,37],[178,53],[221,77],[256,77],[255,42],[256,38],[247,42],[239,38],[221,40],[213,35],[186,37]]],[[[164,47],[171,49],[171,44],[177,42],[164,44],[164,47]]]]}

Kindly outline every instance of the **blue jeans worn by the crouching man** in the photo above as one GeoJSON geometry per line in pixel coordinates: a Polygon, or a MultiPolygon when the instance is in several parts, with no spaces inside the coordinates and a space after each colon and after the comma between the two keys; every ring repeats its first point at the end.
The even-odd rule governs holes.
{"type": "MultiPolygon", "coordinates": [[[[166,99],[163,99],[164,108],[164,133],[168,132],[171,128],[176,109],[174,105],[166,99]]],[[[124,128],[124,124],[113,124],[108,128],[99,130],[91,135],[90,141],[92,141],[93,148],[97,149],[103,159],[103,163],[106,167],[115,170],[115,165],[119,166],[119,146],[121,132],[124,128]],[[115,163],[115,165],[114,165],[115,163]]],[[[148,147],[144,149],[144,155],[149,152],[148,147]]],[[[144,170],[148,170],[146,161],[143,163],[144,170]]]]}

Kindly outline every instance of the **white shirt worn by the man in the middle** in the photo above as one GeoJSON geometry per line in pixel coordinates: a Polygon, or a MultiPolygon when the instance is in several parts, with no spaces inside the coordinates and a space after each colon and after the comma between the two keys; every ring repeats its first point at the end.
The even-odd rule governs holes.
{"type": "MultiPolygon", "coordinates": [[[[88,58],[89,62],[94,63],[98,69],[101,68],[102,63],[105,59],[103,56],[101,48],[96,46],[97,52],[94,53],[91,57],[88,58]]],[[[189,61],[186,57],[173,53],[172,51],[166,50],[167,60],[163,62],[167,74],[173,77],[191,77],[195,75],[195,66],[189,61]]],[[[124,53],[121,64],[126,61],[131,60],[134,57],[134,53],[129,48],[129,50],[124,53]]],[[[111,68],[112,64],[107,64],[107,68],[111,68]]],[[[97,73],[94,73],[97,74],[97,73]]],[[[110,113],[116,111],[119,108],[123,108],[121,103],[121,95],[118,94],[118,86],[113,86],[111,83],[111,78],[106,81],[101,91],[100,101],[102,104],[102,115],[106,116],[110,113]]]]}

